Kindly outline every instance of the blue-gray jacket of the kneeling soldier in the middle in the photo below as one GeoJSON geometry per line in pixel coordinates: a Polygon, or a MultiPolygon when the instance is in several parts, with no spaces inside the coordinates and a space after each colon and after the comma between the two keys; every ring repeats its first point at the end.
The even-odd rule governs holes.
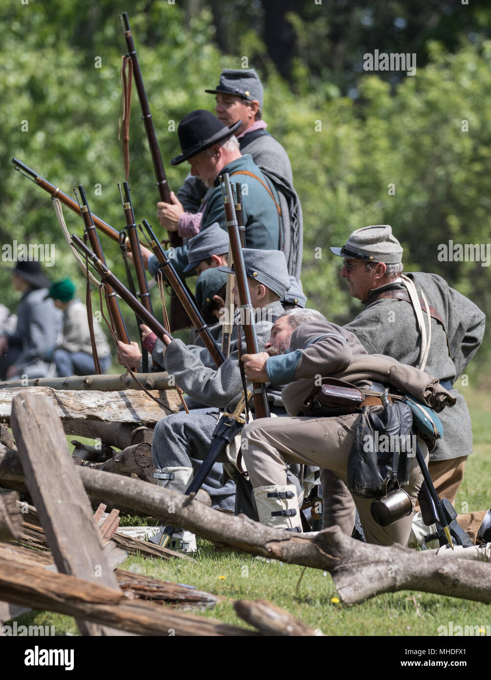
{"type": "MultiPolygon", "coordinates": [[[[256,334],[259,352],[263,352],[271,335],[275,320],[284,313],[280,302],[271,303],[256,315],[256,334]]],[[[237,341],[231,343],[228,359],[217,369],[208,350],[197,345],[185,345],[181,340],[173,340],[163,354],[163,344],[157,341],[152,357],[162,365],[175,384],[186,394],[202,404],[231,409],[243,394],[239,369],[237,341]]],[[[241,353],[246,354],[245,339],[242,335],[241,353]]],[[[252,384],[248,384],[249,389],[252,384]]],[[[251,390],[252,391],[252,390],[251,390]]],[[[282,406],[281,387],[267,386],[270,403],[282,406]]]]}

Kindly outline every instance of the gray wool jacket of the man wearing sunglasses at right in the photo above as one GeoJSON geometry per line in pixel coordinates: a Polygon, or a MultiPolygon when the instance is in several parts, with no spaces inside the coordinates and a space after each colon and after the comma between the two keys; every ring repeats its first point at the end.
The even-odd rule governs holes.
{"type": "MultiPolygon", "coordinates": [[[[422,272],[407,274],[413,279],[418,295],[423,290],[428,304],[441,314],[447,331],[437,320],[431,319],[431,343],[425,371],[440,381],[452,385],[477,352],[484,335],[485,315],[473,302],[450,288],[445,279],[422,272]]],[[[377,292],[403,288],[392,283],[377,292]]],[[[426,313],[423,313],[427,324],[426,313]]],[[[369,354],[386,354],[403,364],[418,366],[421,337],[411,304],[397,299],[380,299],[366,305],[345,325],[360,339],[369,354]]],[[[428,328],[428,326],[426,326],[428,328]]],[[[430,460],[447,460],[469,456],[473,452],[472,426],[464,396],[451,390],[457,399],[452,409],[443,409],[439,418],[443,425],[443,438],[430,453],[430,460]]]]}

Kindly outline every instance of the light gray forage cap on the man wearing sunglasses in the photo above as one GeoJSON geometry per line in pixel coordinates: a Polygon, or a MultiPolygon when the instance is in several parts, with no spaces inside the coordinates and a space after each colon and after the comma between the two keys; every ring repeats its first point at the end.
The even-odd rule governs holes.
{"type": "Polygon", "coordinates": [[[392,235],[389,224],[372,224],[356,229],[342,248],[331,250],[343,258],[385,262],[386,265],[397,265],[403,258],[403,247],[392,235]]]}

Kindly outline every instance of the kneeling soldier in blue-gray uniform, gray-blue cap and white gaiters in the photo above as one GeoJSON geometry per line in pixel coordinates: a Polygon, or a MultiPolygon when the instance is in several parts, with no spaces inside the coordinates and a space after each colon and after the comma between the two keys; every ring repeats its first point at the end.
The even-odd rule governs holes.
{"type": "MultiPolygon", "coordinates": [[[[278,250],[247,248],[243,250],[243,259],[252,307],[256,310],[255,326],[258,345],[260,350],[263,350],[273,323],[278,316],[284,314],[280,300],[290,286],[286,260],[284,254],[278,250]]],[[[225,270],[226,273],[229,271],[233,273],[233,269],[228,270],[226,267],[220,267],[220,269],[225,270]]],[[[233,294],[237,305],[236,287],[233,288],[233,294]]],[[[313,310],[305,310],[305,312],[318,314],[313,310]]],[[[237,344],[237,341],[231,343],[231,354],[218,369],[204,347],[186,346],[177,339],[167,347],[163,347],[160,341],[156,341],[154,345],[152,357],[163,365],[169,375],[173,375],[175,383],[188,396],[205,405],[205,408],[193,409],[189,414],[176,413],[167,416],[155,426],[152,458],[156,468],[163,471],[163,474],[173,475],[165,484],[171,490],[180,492],[186,490],[193,475],[192,461],[203,460],[209,449],[219,415],[218,409],[233,409],[243,394],[237,344]]],[[[242,352],[245,352],[245,343],[242,342],[241,346],[242,352]]],[[[139,361],[140,353],[136,344],[120,343],[120,352],[130,365],[136,365],[139,361]]],[[[280,388],[268,386],[267,392],[271,402],[271,411],[284,415],[280,388]]],[[[219,459],[218,462],[222,460],[219,459]]],[[[220,504],[222,508],[228,509],[223,502],[220,503],[220,500],[223,500],[220,499],[220,494],[223,493],[223,489],[216,488],[215,498],[212,496],[214,505],[220,504]]],[[[233,497],[226,500],[231,502],[233,497]]],[[[175,533],[174,537],[176,537],[175,533]]],[[[177,539],[180,539],[179,532],[177,532],[177,539]]],[[[189,543],[187,539],[185,542],[189,543]]]]}

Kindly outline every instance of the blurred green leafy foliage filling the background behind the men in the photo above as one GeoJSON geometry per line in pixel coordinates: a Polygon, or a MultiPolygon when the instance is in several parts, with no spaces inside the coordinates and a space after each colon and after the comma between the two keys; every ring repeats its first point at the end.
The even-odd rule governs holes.
{"type": "MultiPolygon", "coordinates": [[[[447,22],[440,41],[428,40],[436,29],[424,31],[417,24],[418,33],[409,17],[412,41],[396,41],[396,33],[388,31],[394,50],[413,51],[418,44],[426,55],[426,65],[418,61],[416,75],[402,75],[398,84],[384,80],[381,76],[386,74],[356,71],[354,63],[347,66],[345,61],[337,73],[326,70],[328,46],[322,43],[322,31],[332,33],[335,28],[340,34],[337,44],[343,37],[350,50],[356,42],[359,56],[367,41],[358,33],[350,34],[353,17],[364,26],[360,16],[372,5],[382,11],[379,3],[358,3],[354,9],[350,3],[338,3],[336,18],[333,3],[324,3],[331,14],[314,16],[313,3],[296,11],[290,18],[300,48],[288,80],[278,75],[267,44],[255,30],[262,16],[258,3],[224,7],[224,18],[229,16],[230,21],[237,10],[235,55],[222,54],[214,46],[216,28],[208,3],[188,0],[178,6],[136,0],[131,4],[131,29],[171,188],[180,186],[186,174],[184,165],[169,165],[180,150],[179,120],[192,109],[212,109],[214,101],[205,87],[216,84],[223,67],[241,67],[241,57],[248,54],[249,66],[258,70],[265,85],[269,131],[288,150],[303,205],[303,285],[309,306],[337,322],[352,318],[358,303],[339,279],[340,261],[328,247],[344,243],[355,228],[385,223],[392,224],[405,247],[407,271],[439,273],[490,311],[489,267],[438,259],[439,244],[449,240],[483,244],[490,240],[491,43],[481,39],[486,17],[480,3],[474,3],[469,15],[462,15],[460,32],[447,25],[450,14],[440,17],[436,26],[447,22]],[[348,10],[352,20],[343,24],[341,15],[348,10]],[[340,95],[351,82],[348,70],[357,93],[352,98],[340,95]],[[463,129],[464,121],[468,131],[463,129]]],[[[400,4],[388,3],[387,22],[405,12],[400,4]]],[[[435,3],[430,4],[428,12],[434,16],[435,3]]],[[[82,275],[75,274],[48,194],[15,173],[10,159],[20,158],[66,193],[84,184],[92,211],[122,228],[116,182],[124,179],[124,169],[117,135],[120,54],[126,48],[118,10],[112,0],[39,0],[0,10],[3,25],[10,28],[0,48],[0,200],[6,207],[0,240],[2,244],[12,239],[55,243],[56,264],[48,275],[69,273],[80,286],[82,275]],[[25,121],[29,129],[22,131],[25,121]]],[[[382,35],[379,28],[377,35],[382,35]]],[[[376,41],[372,44],[377,46],[376,41]]],[[[157,192],[136,100],[134,88],[133,203],[137,220],[147,217],[155,222],[157,192]]],[[[67,209],[65,219],[69,230],[82,232],[82,221],[67,209]]],[[[103,239],[103,247],[109,267],[124,279],[118,246],[103,239]]],[[[0,270],[3,302],[13,308],[16,298],[5,264],[0,270]]],[[[486,340],[475,363],[484,366],[488,352],[486,340]]]]}

